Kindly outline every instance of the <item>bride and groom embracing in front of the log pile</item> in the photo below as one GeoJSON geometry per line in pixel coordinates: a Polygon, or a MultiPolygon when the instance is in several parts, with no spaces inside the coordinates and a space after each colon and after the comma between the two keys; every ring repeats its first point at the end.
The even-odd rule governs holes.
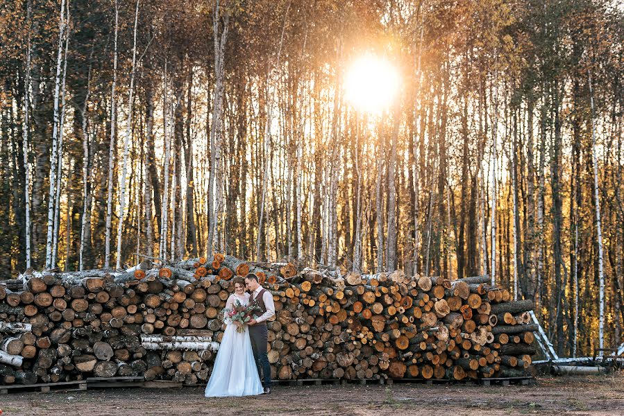
{"type": "Polygon", "coordinates": [[[206,385],[205,397],[253,396],[271,392],[267,320],[275,315],[273,295],[260,286],[258,276],[253,273],[244,279],[235,277],[232,283],[234,293],[228,297],[226,311],[252,305],[257,318],[241,322],[230,318],[234,313],[225,314],[227,327],[206,385]],[[264,376],[264,383],[260,382],[260,374],[264,376]]]}

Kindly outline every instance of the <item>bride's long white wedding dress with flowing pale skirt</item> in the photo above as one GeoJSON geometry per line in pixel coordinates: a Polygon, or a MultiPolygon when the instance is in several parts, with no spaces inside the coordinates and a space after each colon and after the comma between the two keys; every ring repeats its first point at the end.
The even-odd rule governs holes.
{"type": "MultiPolygon", "coordinates": [[[[235,301],[242,305],[249,303],[249,294],[243,296],[236,294],[228,297],[226,308],[232,309],[235,301]]],[[[219,346],[217,359],[206,390],[205,397],[228,397],[228,396],[254,396],[262,395],[264,389],[258,376],[258,368],[255,366],[249,329],[245,325],[245,331],[239,333],[237,326],[229,318],[224,318],[226,331],[219,346]]]]}

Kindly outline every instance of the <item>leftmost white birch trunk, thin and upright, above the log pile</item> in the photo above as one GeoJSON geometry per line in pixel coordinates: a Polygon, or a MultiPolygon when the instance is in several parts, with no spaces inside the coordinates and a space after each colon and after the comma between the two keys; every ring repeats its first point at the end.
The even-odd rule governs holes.
{"type": "Polygon", "coordinates": [[[28,23],[28,40],[26,42],[26,70],[24,80],[24,125],[22,125],[22,153],[24,153],[24,200],[26,202],[26,268],[31,267],[31,171],[28,164],[28,130],[30,121],[28,114],[30,112],[31,97],[31,16],[33,14],[33,5],[28,0],[26,11],[26,21],[28,23]]]}

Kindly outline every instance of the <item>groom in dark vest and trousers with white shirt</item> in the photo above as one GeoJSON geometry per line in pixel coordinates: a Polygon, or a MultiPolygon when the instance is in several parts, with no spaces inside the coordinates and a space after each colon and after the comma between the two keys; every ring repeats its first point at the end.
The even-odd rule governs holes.
{"type": "MultiPolygon", "coordinates": [[[[273,304],[273,295],[258,283],[258,276],[249,273],[245,277],[245,286],[251,293],[250,302],[258,302],[260,306],[260,315],[256,319],[248,322],[249,338],[251,338],[251,349],[253,349],[253,358],[255,358],[255,366],[258,367],[258,374],[264,374],[264,394],[271,392],[271,365],[267,357],[267,320],[275,316],[275,304],[273,304]],[[262,369],[262,372],[260,372],[262,369]]],[[[262,378],[262,377],[261,377],[262,378]]]]}

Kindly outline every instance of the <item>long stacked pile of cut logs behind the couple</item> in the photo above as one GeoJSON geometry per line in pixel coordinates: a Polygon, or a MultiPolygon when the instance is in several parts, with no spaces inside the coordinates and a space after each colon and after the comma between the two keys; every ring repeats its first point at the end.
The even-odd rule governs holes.
{"type": "Polygon", "coordinates": [[[217,254],[126,272],[33,272],[0,283],[1,383],[90,376],[208,380],[232,277],[254,272],[276,301],[273,378],[478,379],[525,375],[530,300],[489,277],[449,281],[298,270],[217,254]]]}

